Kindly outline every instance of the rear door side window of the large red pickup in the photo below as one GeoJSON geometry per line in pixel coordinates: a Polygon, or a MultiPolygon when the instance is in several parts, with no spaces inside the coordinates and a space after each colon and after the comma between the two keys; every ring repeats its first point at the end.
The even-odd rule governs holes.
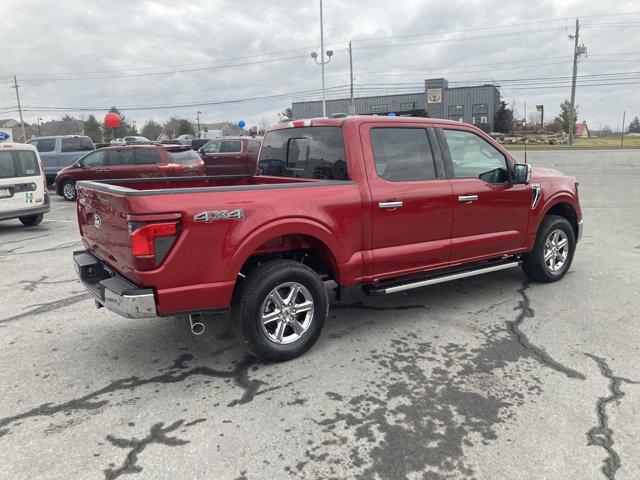
{"type": "Polygon", "coordinates": [[[390,182],[435,180],[436,169],[424,128],[372,128],[376,172],[390,182]]]}

